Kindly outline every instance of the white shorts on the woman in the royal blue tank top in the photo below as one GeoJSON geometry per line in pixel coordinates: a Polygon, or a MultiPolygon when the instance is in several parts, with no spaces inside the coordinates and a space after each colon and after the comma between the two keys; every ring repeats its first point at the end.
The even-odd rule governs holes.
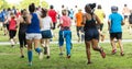
{"type": "Polygon", "coordinates": [[[25,38],[31,39],[31,41],[32,39],[41,39],[42,35],[41,35],[41,33],[26,33],[25,38]]]}

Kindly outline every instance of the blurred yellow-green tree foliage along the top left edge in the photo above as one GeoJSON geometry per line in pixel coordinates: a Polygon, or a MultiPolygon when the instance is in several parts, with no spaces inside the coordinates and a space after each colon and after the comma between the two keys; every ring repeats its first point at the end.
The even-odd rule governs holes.
{"type": "MultiPolygon", "coordinates": [[[[14,0],[15,1],[15,0],[14,0]]],[[[0,0],[0,10],[15,7],[16,9],[26,9],[30,3],[35,3],[36,7],[48,8],[48,3],[45,0],[22,0],[20,3],[8,3],[6,0],[0,0]]]]}

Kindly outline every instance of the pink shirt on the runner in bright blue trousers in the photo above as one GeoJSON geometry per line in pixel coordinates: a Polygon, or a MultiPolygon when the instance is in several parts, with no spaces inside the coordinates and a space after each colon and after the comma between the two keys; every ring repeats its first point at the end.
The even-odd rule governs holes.
{"type": "Polygon", "coordinates": [[[62,28],[65,27],[65,26],[70,27],[70,25],[72,25],[70,18],[67,16],[67,15],[61,16],[61,24],[62,24],[62,26],[61,26],[62,28]]]}

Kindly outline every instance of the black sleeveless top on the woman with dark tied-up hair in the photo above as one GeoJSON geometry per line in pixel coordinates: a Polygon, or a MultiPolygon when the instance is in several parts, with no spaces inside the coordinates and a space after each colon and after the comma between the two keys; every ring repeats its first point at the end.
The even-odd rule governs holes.
{"type": "Polygon", "coordinates": [[[87,31],[89,28],[97,28],[96,20],[91,16],[91,20],[86,20],[86,24],[84,26],[84,30],[87,31]]]}

